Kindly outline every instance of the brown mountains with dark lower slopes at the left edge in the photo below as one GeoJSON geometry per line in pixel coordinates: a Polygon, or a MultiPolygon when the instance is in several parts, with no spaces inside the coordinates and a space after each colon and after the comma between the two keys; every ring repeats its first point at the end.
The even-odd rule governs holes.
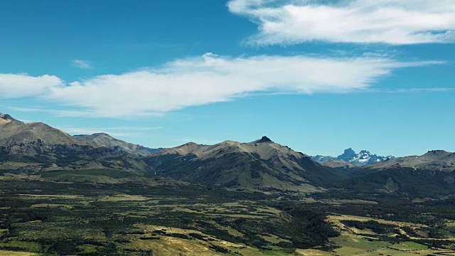
{"type": "Polygon", "coordinates": [[[7,114],[1,114],[0,118],[0,162],[10,163],[9,169],[22,166],[23,174],[82,169],[149,171],[149,166],[136,156],[136,152],[132,154],[133,149],[146,149],[112,140],[115,146],[107,142],[99,146],[102,139],[87,142],[42,122],[26,124],[7,114]],[[23,167],[24,164],[17,163],[29,165],[23,167]]]}

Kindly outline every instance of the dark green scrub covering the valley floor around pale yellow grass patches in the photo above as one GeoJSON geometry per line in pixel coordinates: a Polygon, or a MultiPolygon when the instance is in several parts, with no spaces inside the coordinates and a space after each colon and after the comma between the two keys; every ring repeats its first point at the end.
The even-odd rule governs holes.
{"type": "MultiPolygon", "coordinates": [[[[66,173],[46,171],[43,175],[66,173]]],[[[85,170],[81,174],[119,178],[124,173],[85,170]]],[[[294,193],[266,195],[193,185],[9,180],[0,181],[0,188],[0,249],[43,255],[151,255],[153,249],[139,245],[164,238],[206,242],[211,252],[221,255],[234,253],[235,248],[217,243],[215,238],[263,252],[286,254],[309,247],[333,250],[336,245],[328,240],[338,236],[339,231],[326,222],[328,214],[424,225],[415,229],[375,220],[341,220],[347,227],[372,230],[377,235],[369,237],[384,241],[414,240],[428,247],[453,249],[453,240],[444,238],[455,237],[454,229],[447,225],[455,219],[455,197],[412,202],[407,197],[387,194],[314,194],[321,202],[326,198],[353,201],[334,206],[317,201],[299,203],[301,196],[294,193]],[[122,196],[125,194],[128,196],[122,196]],[[360,198],[377,203],[355,203],[360,198]],[[148,225],[190,231],[150,233],[144,230],[148,225]],[[398,229],[405,230],[406,235],[398,229]],[[270,236],[275,241],[267,239],[270,236]]]]}

